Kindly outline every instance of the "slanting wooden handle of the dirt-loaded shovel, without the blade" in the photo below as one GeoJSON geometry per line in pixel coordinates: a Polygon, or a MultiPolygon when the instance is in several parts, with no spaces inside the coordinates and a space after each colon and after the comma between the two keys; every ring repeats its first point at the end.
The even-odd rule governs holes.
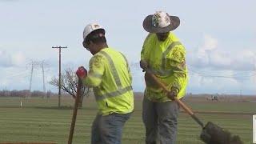
{"type": "MultiPolygon", "coordinates": [[[[154,82],[156,82],[158,84],[158,86],[162,87],[163,90],[165,90],[166,93],[169,93],[170,90],[168,90],[168,88],[158,80],[158,78],[152,74],[152,72],[150,70],[146,69],[146,73],[150,74],[150,77],[153,78],[154,82]]],[[[182,106],[182,108],[188,113],[190,114],[190,116],[194,119],[195,122],[198,122],[198,124],[200,126],[202,126],[202,128],[204,127],[203,123],[198,119],[198,117],[196,117],[193,113],[192,110],[190,110],[190,108],[188,106],[185,105],[185,103],[183,103],[181,100],[179,100],[177,97],[175,97],[175,101],[178,102],[179,106],[182,106]]]]}

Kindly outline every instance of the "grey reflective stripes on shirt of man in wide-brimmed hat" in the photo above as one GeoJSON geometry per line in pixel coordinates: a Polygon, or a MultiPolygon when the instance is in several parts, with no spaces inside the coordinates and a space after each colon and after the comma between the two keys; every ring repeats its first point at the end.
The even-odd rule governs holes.
{"type": "Polygon", "coordinates": [[[161,65],[161,68],[160,70],[154,70],[154,69],[151,69],[151,71],[154,73],[154,74],[158,74],[160,76],[169,76],[170,74],[173,74],[173,71],[174,70],[180,70],[180,69],[177,69],[176,67],[172,66],[172,68],[170,70],[166,70],[165,69],[165,66],[166,66],[166,55],[170,52],[170,50],[172,48],[174,48],[174,46],[178,46],[178,45],[182,45],[181,42],[172,42],[170,44],[170,46],[168,46],[168,48],[166,49],[166,51],[164,51],[162,53],[162,65],[161,65]]]}

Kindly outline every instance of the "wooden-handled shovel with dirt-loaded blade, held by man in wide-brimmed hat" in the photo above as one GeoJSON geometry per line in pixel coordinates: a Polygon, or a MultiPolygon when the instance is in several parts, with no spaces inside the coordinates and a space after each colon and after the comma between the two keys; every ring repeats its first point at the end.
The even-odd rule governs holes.
{"type": "MultiPolygon", "coordinates": [[[[158,86],[162,87],[162,89],[166,93],[170,92],[170,90],[168,90],[167,87],[162,82],[160,82],[158,78],[149,69],[145,69],[145,71],[147,74],[150,75],[154,82],[157,83],[158,86]]],[[[200,138],[202,139],[203,142],[206,142],[207,144],[242,144],[242,141],[237,135],[231,138],[230,132],[222,129],[220,126],[215,125],[213,122],[207,122],[206,126],[204,126],[202,121],[199,120],[199,118],[193,113],[192,110],[190,110],[189,107],[187,107],[177,97],[174,97],[174,99],[176,102],[178,102],[178,105],[182,106],[182,108],[188,114],[190,114],[191,118],[193,118],[194,121],[202,127],[200,138]]]]}

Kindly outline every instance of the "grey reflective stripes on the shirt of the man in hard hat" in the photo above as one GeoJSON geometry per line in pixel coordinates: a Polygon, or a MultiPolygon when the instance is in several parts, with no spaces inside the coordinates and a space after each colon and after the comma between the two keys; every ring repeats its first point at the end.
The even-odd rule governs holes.
{"type": "MultiPolygon", "coordinates": [[[[132,86],[126,86],[124,88],[122,87],[122,83],[121,83],[120,78],[118,76],[118,72],[115,69],[114,62],[113,62],[112,58],[110,58],[110,55],[107,54],[105,51],[100,51],[99,54],[104,55],[106,57],[107,61],[110,63],[111,74],[113,74],[114,81],[115,81],[116,85],[118,86],[118,90],[110,92],[110,93],[106,93],[106,94],[98,94],[100,89],[98,87],[95,87],[94,88],[94,94],[98,94],[98,95],[95,95],[96,101],[103,100],[105,98],[117,97],[117,96],[120,96],[122,94],[125,94],[126,92],[128,92],[130,90],[133,90],[132,86]]],[[[123,58],[125,58],[124,55],[122,55],[122,56],[123,56],[123,58]]],[[[128,66],[127,61],[126,61],[126,65],[128,66]]]]}

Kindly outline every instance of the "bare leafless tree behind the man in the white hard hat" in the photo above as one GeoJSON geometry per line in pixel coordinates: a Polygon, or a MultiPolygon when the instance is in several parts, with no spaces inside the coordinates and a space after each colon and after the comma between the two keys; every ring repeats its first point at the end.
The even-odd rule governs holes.
{"type": "MultiPolygon", "coordinates": [[[[53,77],[49,82],[50,85],[59,86],[58,77],[53,77]]],[[[61,89],[70,94],[73,98],[76,98],[78,88],[78,76],[75,74],[74,70],[70,68],[65,70],[61,78],[61,89]]],[[[78,103],[78,107],[82,107],[82,100],[84,97],[88,97],[90,89],[87,86],[82,86],[81,90],[81,100],[78,103]]]]}

